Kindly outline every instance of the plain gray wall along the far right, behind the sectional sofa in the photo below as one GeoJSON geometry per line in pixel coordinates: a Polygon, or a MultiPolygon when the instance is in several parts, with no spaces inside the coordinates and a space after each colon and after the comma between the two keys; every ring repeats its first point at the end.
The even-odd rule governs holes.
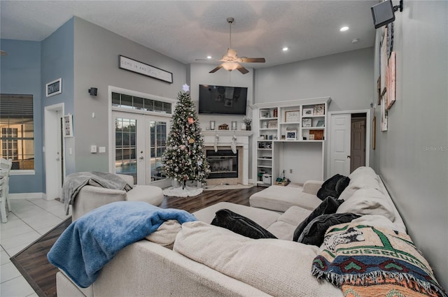
{"type": "Polygon", "coordinates": [[[409,235],[448,289],[448,2],[404,3],[395,13],[396,101],[388,131],[377,126],[375,168],[409,235]]]}

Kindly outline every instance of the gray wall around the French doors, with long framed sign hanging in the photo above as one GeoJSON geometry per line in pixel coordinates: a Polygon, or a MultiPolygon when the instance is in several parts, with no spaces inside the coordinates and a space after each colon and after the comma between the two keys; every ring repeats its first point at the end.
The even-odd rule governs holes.
{"type": "Polygon", "coordinates": [[[186,65],[78,17],[74,48],[76,171],[109,171],[109,85],[176,99],[186,83],[186,65]],[[174,83],[120,69],[118,55],[172,72],[174,83]],[[87,93],[90,87],[98,88],[98,96],[87,93]],[[106,147],[106,154],[91,154],[90,145],[106,147]]]}

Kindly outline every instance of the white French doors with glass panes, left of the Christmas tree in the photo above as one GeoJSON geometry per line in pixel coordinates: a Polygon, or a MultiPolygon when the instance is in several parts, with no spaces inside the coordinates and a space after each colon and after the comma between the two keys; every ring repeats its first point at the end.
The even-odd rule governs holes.
{"type": "Polygon", "coordinates": [[[162,174],[170,117],[113,111],[115,173],[132,175],[134,184],[169,187],[162,174]]]}

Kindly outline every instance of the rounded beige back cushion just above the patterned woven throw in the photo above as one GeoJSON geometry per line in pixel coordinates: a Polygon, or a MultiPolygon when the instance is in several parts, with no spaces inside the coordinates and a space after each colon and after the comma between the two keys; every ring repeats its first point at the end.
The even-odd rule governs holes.
{"type": "Polygon", "coordinates": [[[356,215],[383,215],[389,220],[395,219],[393,204],[382,191],[371,187],[363,187],[344,201],[336,213],[352,212],[356,215]]]}

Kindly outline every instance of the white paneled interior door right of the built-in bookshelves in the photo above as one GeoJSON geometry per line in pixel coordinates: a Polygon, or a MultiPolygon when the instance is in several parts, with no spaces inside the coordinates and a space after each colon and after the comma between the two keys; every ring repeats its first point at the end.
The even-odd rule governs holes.
{"type": "Polygon", "coordinates": [[[333,114],[330,118],[330,176],[350,174],[351,114],[333,114]]]}

